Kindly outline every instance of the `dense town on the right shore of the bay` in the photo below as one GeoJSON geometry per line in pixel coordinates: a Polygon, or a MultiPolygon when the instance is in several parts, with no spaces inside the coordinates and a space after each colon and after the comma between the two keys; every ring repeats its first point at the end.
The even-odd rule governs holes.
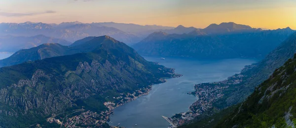
{"type": "MultiPolygon", "coordinates": [[[[245,68],[243,68],[242,71],[244,69],[245,68]]],[[[197,96],[198,100],[189,106],[189,111],[174,114],[169,120],[178,127],[191,123],[196,117],[202,115],[204,112],[214,109],[213,103],[224,96],[223,91],[230,88],[231,85],[240,84],[243,82],[244,77],[246,76],[239,73],[234,74],[223,81],[195,84],[194,92],[187,94],[197,96]]]]}

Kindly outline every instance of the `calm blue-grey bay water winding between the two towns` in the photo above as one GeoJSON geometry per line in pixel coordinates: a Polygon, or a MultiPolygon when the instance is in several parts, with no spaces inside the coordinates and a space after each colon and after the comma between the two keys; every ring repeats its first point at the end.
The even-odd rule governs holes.
{"type": "Polygon", "coordinates": [[[183,76],[153,85],[148,95],[116,108],[110,125],[120,123],[126,128],[167,128],[169,123],[161,116],[171,117],[175,113],[188,111],[197,98],[186,93],[194,91],[195,84],[224,80],[239,73],[245,65],[256,62],[252,59],[211,61],[171,57],[163,61],[159,58],[145,57],[148,61],[175,68],[176,73],[183,76]]]}

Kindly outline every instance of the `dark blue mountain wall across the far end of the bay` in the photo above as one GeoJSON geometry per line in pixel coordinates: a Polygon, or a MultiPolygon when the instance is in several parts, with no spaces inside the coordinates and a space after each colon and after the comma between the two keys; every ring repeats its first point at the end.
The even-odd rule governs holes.
{"type": "Polygon", "coordinates": [[[133,48],[142,55],[153,56],[263,58],[294,32],[290,28],[220,35],[207,35],[201,30],[189,34],[154,32],[133,48]]]}

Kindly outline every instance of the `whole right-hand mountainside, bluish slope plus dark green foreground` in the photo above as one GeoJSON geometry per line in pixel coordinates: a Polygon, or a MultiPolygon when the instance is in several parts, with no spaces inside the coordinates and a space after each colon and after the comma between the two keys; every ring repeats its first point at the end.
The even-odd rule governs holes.
{"type": "MultiPolygon", "coordinates": [[[[216,86],[228,88],[221,90],[222,98],[212,102],[213,109],[197,117],[195,123],[182,128],[270,128],[278,123],[294,127],[291,100],[295,99],[291,91],[294,90],[295,53],[296,33],[260,62],[246,66],[240,74],[221,82],[195,85],[196,90],[216,86]],[[215,109],[223,108],[215,114],[215,109]]],[[[193,104],[191,107],[198,106],[193,104]]]]}

